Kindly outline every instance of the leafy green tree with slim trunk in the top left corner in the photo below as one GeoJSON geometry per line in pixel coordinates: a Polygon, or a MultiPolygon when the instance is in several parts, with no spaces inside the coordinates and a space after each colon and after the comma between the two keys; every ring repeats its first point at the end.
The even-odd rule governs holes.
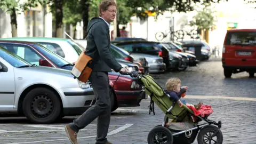
{"type": "Polygon", "coordinates": [[[0,9],[10,14],[12,37],[17,37],[17,14],[29,10],[31,7],[37,7],[38,4],[46,4],[47,0],[27,0],[25,3],[20,3],[20,0],[4,0],[0,2],[0,9]]]}

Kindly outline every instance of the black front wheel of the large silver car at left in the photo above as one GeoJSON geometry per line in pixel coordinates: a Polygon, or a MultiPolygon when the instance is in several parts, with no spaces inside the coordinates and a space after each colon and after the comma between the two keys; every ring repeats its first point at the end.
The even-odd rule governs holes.
{"type": "Polygon", "coordinates": [[[24,115],[33,123],[52,123],[61,113],[58,96],[44,87],[28,92],[23,100],[22,108],[24,115]]]}

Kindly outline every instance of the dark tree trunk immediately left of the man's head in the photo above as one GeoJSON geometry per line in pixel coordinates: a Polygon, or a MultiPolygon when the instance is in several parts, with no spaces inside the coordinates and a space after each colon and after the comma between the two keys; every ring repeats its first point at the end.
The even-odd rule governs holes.
{"type": "Polygon", "coordinates": [[[81,0],[82,5],[82,18],[83,18],[83,39],[87,36],[87,26],[89,23],[89,1],[88,0],[81,0]]]}

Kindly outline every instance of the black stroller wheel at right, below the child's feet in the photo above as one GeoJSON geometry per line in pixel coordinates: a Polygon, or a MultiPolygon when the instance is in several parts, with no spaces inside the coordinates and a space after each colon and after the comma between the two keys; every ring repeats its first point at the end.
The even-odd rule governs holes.
{"type": "Polygon", "coordinates": [[[197,135],[198,144],[222,144],[223,135],[220,129],[213,125],[203,127],[197,135]]]}

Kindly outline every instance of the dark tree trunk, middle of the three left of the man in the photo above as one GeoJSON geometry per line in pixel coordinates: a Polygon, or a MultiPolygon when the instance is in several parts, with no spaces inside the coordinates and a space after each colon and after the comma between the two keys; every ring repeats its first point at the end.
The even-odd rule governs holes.
{"type": "Polygon", "coordinates": [[[55,3],[55,19],[56,19],[56,37],[62,38],[62,19],[63,19],[63,11],[62,11],[62,3],[63,0],[54,0],[55,3]]]}

